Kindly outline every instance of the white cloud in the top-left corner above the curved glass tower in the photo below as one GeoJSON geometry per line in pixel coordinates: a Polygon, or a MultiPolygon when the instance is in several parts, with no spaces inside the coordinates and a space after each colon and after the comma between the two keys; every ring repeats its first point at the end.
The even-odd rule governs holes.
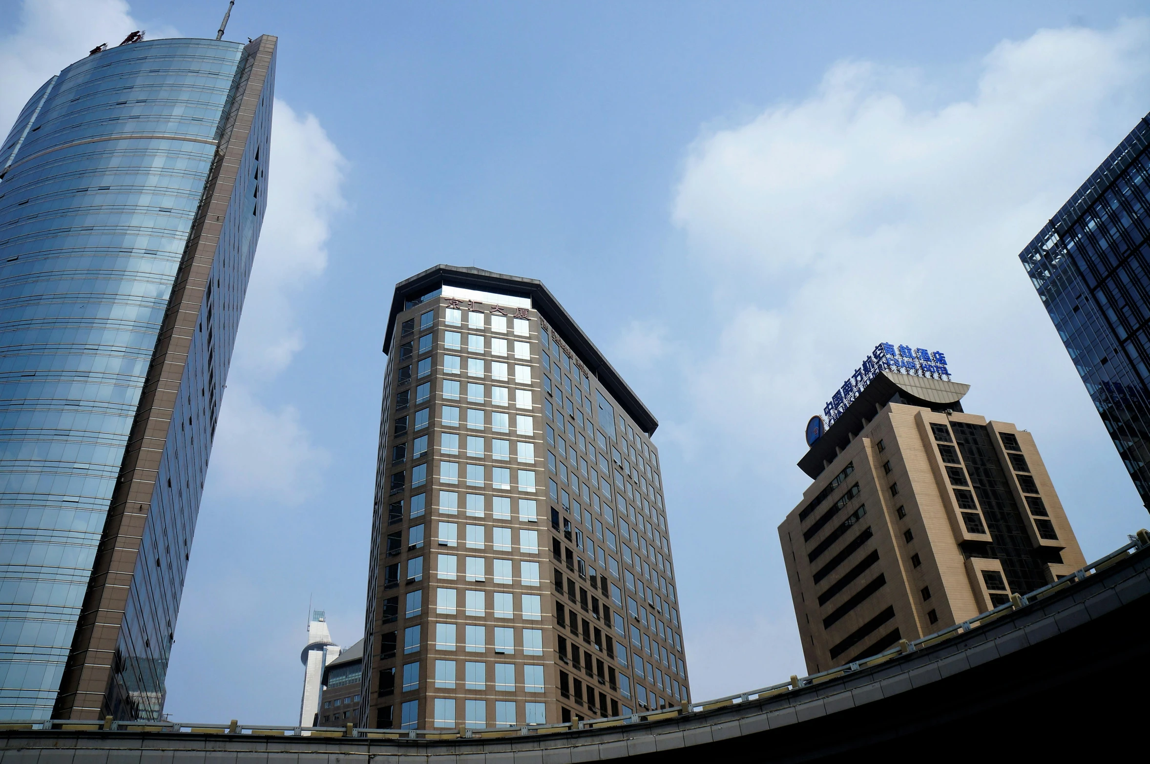
{"type": "MultiPolygon", "coordinates": [[[[178,37],[166,24],[132,18],[124,0],[25,0],[17,30],[0,39],[0,125],[7,134],[36,88],[87,52],[118,45],[129,32],[178,37]]],[[[0,138],[2,140],[2,138],[0,138]]]]}

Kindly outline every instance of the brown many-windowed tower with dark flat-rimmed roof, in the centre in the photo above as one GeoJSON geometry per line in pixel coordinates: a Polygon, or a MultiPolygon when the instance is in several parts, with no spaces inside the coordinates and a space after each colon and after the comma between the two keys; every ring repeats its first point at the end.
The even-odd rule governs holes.
{"type": "Polygon", "coordinates": [[[362,723],[685,702],[658,422],[551,292],[437,265],[383,349],[362,723]]]}

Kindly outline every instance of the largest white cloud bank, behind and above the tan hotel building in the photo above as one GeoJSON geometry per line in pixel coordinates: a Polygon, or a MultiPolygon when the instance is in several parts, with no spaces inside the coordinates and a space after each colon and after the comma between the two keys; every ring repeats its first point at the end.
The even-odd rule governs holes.
{"type": "Polygon", "coordinates": [[[699,646],[731,633],[770,651],[751,679],[744,651],[699,664],[692,641],[697,692],[804,672],[774,527],[808,484],[804,423],[875,342],[946,352],[968,410],[1035,433],[1088,557],[1144,518],[1018,253],[1150,107],[1150,24],[1000,43],[969,98],[929,102],[952,85],[841,62],[808,98],[688,151],[683,280],[722,321],[681,327],[688,403],[662,461],[675,526],[699,528],[680,568],[722,562],[688,566],[683,617],[699,646]],[[728,595],[733,576],[772,584],[728,595]]]}

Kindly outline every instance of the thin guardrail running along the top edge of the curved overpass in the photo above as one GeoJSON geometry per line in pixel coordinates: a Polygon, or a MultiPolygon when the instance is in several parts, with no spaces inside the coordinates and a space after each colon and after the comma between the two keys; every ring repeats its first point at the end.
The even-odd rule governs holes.
{"type": "Polygon", "coordinates": [[[828,669],[821,673],[808,677],[791,676],[788,681],[751,689],[724,697],[716,697],[700,703],[689,703],[687,707],[675,707],[669,709],[658,709],[630,713],[628,716],[613,716],[599,719],[580,721],[568,721],[561,724],[529,724],[513,727],[485,727],[468,728],[452,727],[437,730],[371,730],[355,727],[351,723],[343,727],[291,727],[277,725],[241,725],[236,719],[229,724],[189,724],[182,721],[116,721],[112,717],[103,721],[78,721],[72,719],[37,719],[37,720],[9,720],[0,721],[0,733],[7,731],[87,731],[87,732],[169,732],[190,734],[231,734],[231,735],[258,735],[258,736],[312,736],[312,738],[373,738],[383,740],[457,740],[460,738],[508,738],[516,735],[543,735],[559,732],[573,732],[581,730],[600,730],[624,724],[637,724],[641,721],[660,721],[680,716],[703,713],[713,709],[745,703],[753,700],[762,700],[775,695],[783,695],[788,692],[802,687],[811,687],[819,682],[835,679],[854,671],[876,666],[903,655],[913,653],[920,648],[937,645],[948,639],[965,634],[979,626],[984,626],[994,620],[1013,612],[1020,608],[1037,602],[1038,600],[1060,592],[1074,584],[1086,580],[1087,577],[1110,568],[1130,556],[1132,553],[1150,547],[1150,531],[1141,530],[1136,535],[1130,535],[1129,543],[1116,549],[1105,557],[1097,560],[1084,568],[1064,576],[1053,584],[1048,584],[1042,588],[1028,594],[1012,594],[1011,601],[998,605],[992,610],[980,613],[974,618],[954,624],[948,628],[927,634],[914,641],[899,640],[894,647],[876,655],[853,661],[849,664],[828,669]]]}

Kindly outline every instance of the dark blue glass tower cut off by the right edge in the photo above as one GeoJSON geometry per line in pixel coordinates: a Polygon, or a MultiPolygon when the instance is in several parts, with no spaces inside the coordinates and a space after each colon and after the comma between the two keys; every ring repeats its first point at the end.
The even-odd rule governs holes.
{"type": "Polygon", "coordinates": [[[1019,254],[1150,509],[1150,123],[1019,254]]]}

